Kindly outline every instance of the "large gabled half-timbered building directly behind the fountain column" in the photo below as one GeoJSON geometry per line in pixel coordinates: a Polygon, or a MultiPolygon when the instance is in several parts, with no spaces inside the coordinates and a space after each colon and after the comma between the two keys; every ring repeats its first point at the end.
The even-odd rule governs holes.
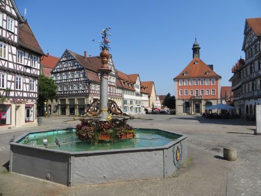
{"type": "MultiPolygon", "coordinates": [[[[116,75],[112,57],[108,66],[112,69],[109,74],[109,99],[115,101],[122,108],[123,87],[116,75]]],[[[51,71],[58,85],[58,114],[82,115],[87,107],[100,95],[100,74],[97,69],[101,67],[98,56],[87,57],[65,50],[55,68],[51,71]]]]}

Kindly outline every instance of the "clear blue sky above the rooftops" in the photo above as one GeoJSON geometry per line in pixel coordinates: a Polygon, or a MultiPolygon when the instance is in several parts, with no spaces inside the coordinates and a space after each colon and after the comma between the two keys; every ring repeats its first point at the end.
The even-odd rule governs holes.
{"type": "Polygon", "coordinates": [[[111,27],[111,51],[116,69],[154,81],[156,93],[174,94],[173,78],[192,60],[192,45],[200,44],[200,59],[214,64],[230,86],[231,68],[242,50],[245,19],[261,17],[260,0],[237,1],[69,1],[17,0],[42,50],[61,57],[65,49],[99,54],[100,31],[111,27]],[[92,39],[96,41],[93,42],[92,39]]]}

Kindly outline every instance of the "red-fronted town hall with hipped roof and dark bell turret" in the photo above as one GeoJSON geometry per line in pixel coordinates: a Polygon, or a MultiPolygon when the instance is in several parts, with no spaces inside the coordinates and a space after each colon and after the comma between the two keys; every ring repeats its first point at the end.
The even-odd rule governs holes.
{"type": "Polygon", "coordinates": [[[176,114],[206,112],[208,106],[220,104],[221,76],[200,59],[200,46],[193,44],[193,59],[173,80],[175,82],[176,114]]]}

